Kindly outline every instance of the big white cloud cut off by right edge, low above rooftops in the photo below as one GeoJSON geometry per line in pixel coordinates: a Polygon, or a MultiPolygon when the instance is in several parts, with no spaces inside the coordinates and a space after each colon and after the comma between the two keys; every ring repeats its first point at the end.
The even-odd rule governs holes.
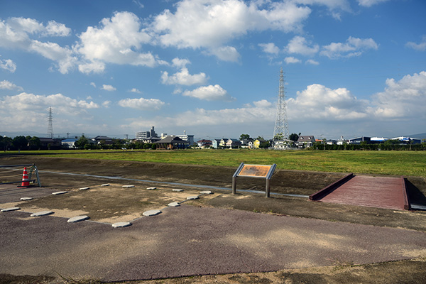
{"type": "Polygon", "coordinates": [[[386,88],[373,96],[371,112],[382,119],[426,119],[426,72],[386,80],[386,88]]]}

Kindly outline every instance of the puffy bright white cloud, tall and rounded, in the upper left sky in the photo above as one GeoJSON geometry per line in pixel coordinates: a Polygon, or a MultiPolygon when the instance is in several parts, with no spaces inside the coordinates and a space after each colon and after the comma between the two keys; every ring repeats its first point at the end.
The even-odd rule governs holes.
{"type": "Polygon", "coordinates": [[[77,50],[92,62],[153,67],[158,64],[155,56],[138,51],[151,41],[151,36],[141,26],[134,13],[116,12],[111,18],[102,19],[99,27],[89,26],[80,35],[77,50]]]}

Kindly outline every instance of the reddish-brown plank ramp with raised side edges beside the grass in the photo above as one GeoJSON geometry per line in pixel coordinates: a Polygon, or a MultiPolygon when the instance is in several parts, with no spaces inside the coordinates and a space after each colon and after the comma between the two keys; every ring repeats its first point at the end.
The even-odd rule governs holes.
{"type": "Polygon", "coordinates": [[[310,200],[397,210],[410,209],[403,177],[351,174],[311,195],[310,200]]]}

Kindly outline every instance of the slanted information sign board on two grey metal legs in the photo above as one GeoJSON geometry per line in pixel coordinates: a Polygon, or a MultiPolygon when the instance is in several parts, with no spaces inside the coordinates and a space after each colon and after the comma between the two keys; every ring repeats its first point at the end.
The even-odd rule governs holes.
{"type": "Polygon", "coordinates": [[[276,164],[273,165],[246,165],[241,163],[236,169],[232,176],[232,194],[236,194],[236,178],[237,177],[248,177],[248,178],[264,178],[266,179],[266,197],[269,197],[271,185],[270,181],[273,172],[276,168],[276,164]]]}

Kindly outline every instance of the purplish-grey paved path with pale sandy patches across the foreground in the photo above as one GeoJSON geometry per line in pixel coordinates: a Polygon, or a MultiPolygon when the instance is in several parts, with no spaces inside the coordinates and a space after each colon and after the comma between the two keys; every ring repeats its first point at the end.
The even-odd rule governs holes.
{"type": "Polygon", "coordinates": [[[426,233],[190,205],[132,226],[0,213],[0,273],[100,280],[278,271],[426,256],[426,233]]]}

